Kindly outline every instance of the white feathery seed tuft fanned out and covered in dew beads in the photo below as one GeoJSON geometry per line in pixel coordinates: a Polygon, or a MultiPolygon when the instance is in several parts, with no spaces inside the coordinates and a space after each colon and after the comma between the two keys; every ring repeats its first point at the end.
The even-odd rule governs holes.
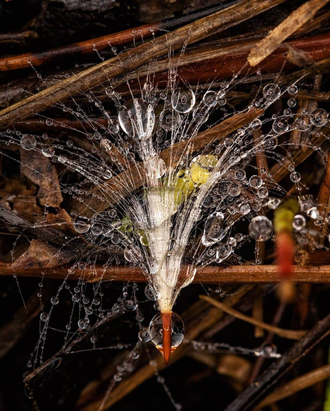
{"type": "MultiPolygon", "coordinates": [[[[229,104],[232,83],[222,84],[218,90],[197,87],[193,91],[177,87],[174,69],[169,74],[167,86],[158,89],[159,85],[148,78],[139,95],[130,95],[126,101],[108,85],[102,100],[88,92],[91,111],[84,104],[77,103],[75,108],[74,104],[73,108],[63,105],[66,115],[71,113],[74,120],[88,125],[88,132],[70,130],[72,136],[65,142],[62,136],[51,137],[51,131],[41,139],[9,133],[10,143],[42,153],[50,164],[60,163],[61,170],[79,173],[74,184],[67,183],[66,177],[60,182],[63,194],[84,206],[73,211],[74,230],[88,250],[105,256],[104,270],[112,264],[126,264],[144,272],[148,281],[145,296],[158,311],[138,338],[140,342],[151,340],[163,355],[165,339],[166,350],[170,344],[173,352],[184,338],[184,324],[172,308],[198,268],[231,264],[234,259],[235,264],[242,264],[244,259],[251,260],[246,256],[249,251],[258,264],[257,243],[274,240],[272,215],[284,202],[284,189],[272,172],[255,165],[254,157],[263,152],[270,162],[284,164],[290,182],[299,190],[302,175],[289,157],[281,154],[286,143],[280,137],[294,129],[316,133],[328,122],[328,113],[321,108],[293,114],[297,85],[284,88],[269,83],[263,85],[260,98],[252,104],[268,109],[287,90],[290,98],[283,113],[250,118],[221,138],[211,135],[209,140],[207,136],[205,146],[199,140],[201,133],[230,115],[245,114],[244,109],[239,111],[229,104]],[[108,107],[113,107],[113,112],[108,107]],[[88,117],[87,113],[97,111],[102,122],[98,117],[88,117]],[[75,143],[73,132],[82,133],[80,140],[85,139],[90,148],[75,143]],[[98,212],[95,201],[101,204],[98,212]],[[189,268],[183,273],[184,267],[189,268]]],[[[55,122],[47,119],[45,125],[51,129],[55,122]]],[[[235,124],[235,119],[232,122],[235,124]]],[[[323,240],[313,224],[328,225],[330,214],[324,215],[311,197],[298,196],[296,201],[299,212],[292,219],[293,236],[298,245],[305,245],[307,238],[310,244],[314,238],[312,246],[317,248],[323,240]]],[[[90,272],[96,277],[95,255],[77,260],[68,274],[79,270],[81,278],[90,272]]],[[[105,315],[99,286],[93,289],[91,303],[83,294],[86,287],[74,290],[72,302],[84,310],[77,319],[79,330],[91,328],[93,315],[105,315]]],[[[68,289],[67,284],[64,289],[68,289]]],[[[135,289],[131,296],[126,291],[106,315],[114,318],[137,312],[140,321],[135,289]]],[[[51,298],[53,306],[59,304],[59,294],[51,298]]],[[[42,321],[48,321],[45,315],[42,321]]]]}

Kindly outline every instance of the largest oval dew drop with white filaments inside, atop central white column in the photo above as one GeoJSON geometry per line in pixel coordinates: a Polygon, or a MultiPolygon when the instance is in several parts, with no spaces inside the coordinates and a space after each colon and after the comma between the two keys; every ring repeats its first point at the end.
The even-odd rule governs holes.
{"type": "Polygon", "coordinates": [[[148,139],[155,125],[155,113],[152,106],[136,98],[128,100],[121,106],[118,119],[123,131],[137,140],[148,139]]]}

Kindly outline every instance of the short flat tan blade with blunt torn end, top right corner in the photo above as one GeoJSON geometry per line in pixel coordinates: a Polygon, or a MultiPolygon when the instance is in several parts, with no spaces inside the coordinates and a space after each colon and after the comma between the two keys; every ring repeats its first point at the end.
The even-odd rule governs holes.
{"type": "Polygon", "coordinates": [[[285,39],[296,32],[304,23],[311,20],[316,12],[328,2],[329,0],[309,0],[298,7],[281,24],[274,28],[269,35],[252,48],[248,57],[250,65],[254,67],[263,61],[285,39]]]}

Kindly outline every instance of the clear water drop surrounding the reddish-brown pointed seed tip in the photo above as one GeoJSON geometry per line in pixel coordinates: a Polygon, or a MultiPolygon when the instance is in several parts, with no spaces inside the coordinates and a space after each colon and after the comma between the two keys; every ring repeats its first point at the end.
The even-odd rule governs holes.
{"type": "Polygon", "coordinates": [[[172,312],[171,314],[156,314],[149,324],[149,337],[151,342],[156,346],[158,351],[164,355],[163,335],[170,328],[171,332],[171,353],[177,349],[184,339],[184,323],[181,317],[172,312]],[[163,316],[170,316],[170,327],[167,322],[163,321],[163,316]]]}

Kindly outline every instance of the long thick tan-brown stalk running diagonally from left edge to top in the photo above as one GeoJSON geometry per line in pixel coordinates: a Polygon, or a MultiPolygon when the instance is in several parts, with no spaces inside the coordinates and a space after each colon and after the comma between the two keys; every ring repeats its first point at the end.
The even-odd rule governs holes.
{"type": "Polygon", "coordinates": [[[120,55],[120,60],[117,57],[111,58],[98,65],[89,67],[75,76],[64,79],[60,83],[54,84],[36,95],[23,99],[0,111],[0,129],[12,125],[15,121],[30,117],[70,96],[108,82],[114,76],[139,67],[152,58],[167,54],[168,50],[177,50],[186,44],[192,44],[215,32],[242,23],[242,21],[284,1],[243,0],[225,10],[185,25],[155,40],[141,44],[135,48],[133,54],[132,51],[125,51],[120,55]]]}

